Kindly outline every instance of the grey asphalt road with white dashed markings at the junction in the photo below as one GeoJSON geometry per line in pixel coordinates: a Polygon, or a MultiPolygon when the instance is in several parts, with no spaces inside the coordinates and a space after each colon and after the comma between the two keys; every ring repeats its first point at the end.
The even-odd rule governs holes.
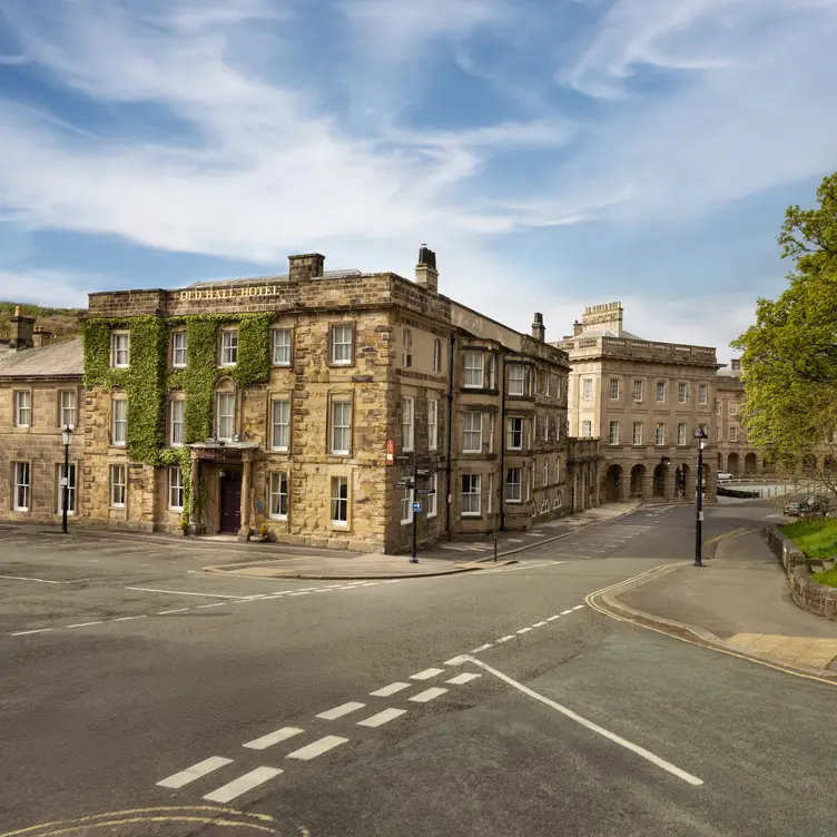
{"type": "Polygon", "coordinates": [[[3,538],[0,837],[834,834],[829,687],[585,607],[692,554],[688,509],[396,582],[3,538]]]}

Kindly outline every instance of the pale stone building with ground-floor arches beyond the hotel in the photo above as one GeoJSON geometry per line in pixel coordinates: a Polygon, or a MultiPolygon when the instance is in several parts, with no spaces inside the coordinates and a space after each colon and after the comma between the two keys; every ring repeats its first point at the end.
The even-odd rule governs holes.
{"type": "Polygon", "coordinates": [[[693,502],[697,442],[706,496],[716,498],[715,348],[657,343],[626,332],[621,303],[584,308],[573,335],[555,343],[570,356],[570,435],[601,440],[600,500],[693,502]]]}

